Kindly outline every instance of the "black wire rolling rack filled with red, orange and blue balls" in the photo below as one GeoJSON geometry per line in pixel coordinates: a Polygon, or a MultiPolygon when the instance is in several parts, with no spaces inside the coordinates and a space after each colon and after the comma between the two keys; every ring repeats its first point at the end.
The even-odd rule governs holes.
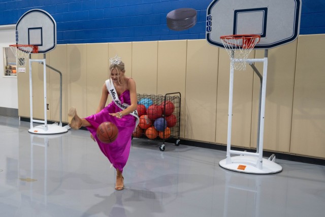
{"type": "Polygon", "coordinates": [[[161,141],[163,144],[159,146],[160,151],[165,151],[165,142],[167,141],[172,141],[176,146],[179,146],[181,93],[171,92],[165,96],[137,94],[137,100],[138,106],[144,105],[146,107],[146,112],[140,111],[138,107],[138,114],[142,116],[142,118],[140,117],[138,126],[140,133],[138,132],[137,135],[134,133],[133,138],[147,138],[161,141]],[[171,107],[173,107],[173,109],[171,109],[171,107]],[[156,112],[152,112],[151,110],[151,114],[156,114],[152,118],[152,115],[150,116],[149,114],[152,108],[161,109],[162,111],[160,113],[160,110],[156,112]],[[145,118],[145,120],[141,120],[143,118],[145,118]],[[172,121],[167,122],[170,118],[173,118],[172,121]],[[145,121],[145,125],[143,125],[143,121],[145,121]]]}

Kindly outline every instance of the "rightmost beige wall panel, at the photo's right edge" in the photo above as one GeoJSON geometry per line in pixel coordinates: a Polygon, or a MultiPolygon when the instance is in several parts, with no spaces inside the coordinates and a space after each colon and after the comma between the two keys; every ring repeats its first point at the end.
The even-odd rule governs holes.
{"type": "Polygon", "coordinates": [[[290,153],[325,158],[325,35],[298,39],[290,153]]]}

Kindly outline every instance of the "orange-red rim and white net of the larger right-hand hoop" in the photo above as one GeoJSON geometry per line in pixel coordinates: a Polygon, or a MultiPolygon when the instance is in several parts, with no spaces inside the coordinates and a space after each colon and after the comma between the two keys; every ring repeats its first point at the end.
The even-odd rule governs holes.
{"type": "Polygon", "coordinates": [[[260,39],[259,35],[220,36],[220,40],[230,56],[232,69],[246,69],[247,57],[260,39]]]}

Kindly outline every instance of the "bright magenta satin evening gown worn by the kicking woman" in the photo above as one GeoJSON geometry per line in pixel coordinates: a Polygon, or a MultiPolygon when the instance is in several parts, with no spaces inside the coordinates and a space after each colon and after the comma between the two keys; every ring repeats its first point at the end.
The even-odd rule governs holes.
{"type": "MultiPolygon", "coordinates": [[[[130,105],[131,99],[129,90],[125,90],[119,96],[119,99],[121,103],[130,105]]],[[[122,172],[129,156],[132,133],[136,126],[136,118],[131,114],[127,114],[122,118],[117,118],[109,114],[119,111],[121,111],[121,109],[112,101],[102,111],[97,114],[90,115],[85,119],[91,124],[90,127],[87,127],[87,130],[95,138],[102,152],[111,162],[113,167],[122,172]],[[109,144],[99,141],[96,136],[98,126],[105,121],[113,122],[118,129],[118,136],[116,140],[109,144]]]]}

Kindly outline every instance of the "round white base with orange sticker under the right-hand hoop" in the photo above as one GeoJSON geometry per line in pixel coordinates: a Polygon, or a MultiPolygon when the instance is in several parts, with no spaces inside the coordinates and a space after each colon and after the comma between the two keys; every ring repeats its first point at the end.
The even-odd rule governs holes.
{"type": "Polygon", "coordinates": [[[231,157],[231,164],[226,164],[226,159],[223,159],[219,162],[219,166],[227,170],[249,174],[274,174],[282,171],[280,165],[264,158],[262,169],[258,169],[256,167],[257,160],[258,157],[241,155],[231,157]]]}

